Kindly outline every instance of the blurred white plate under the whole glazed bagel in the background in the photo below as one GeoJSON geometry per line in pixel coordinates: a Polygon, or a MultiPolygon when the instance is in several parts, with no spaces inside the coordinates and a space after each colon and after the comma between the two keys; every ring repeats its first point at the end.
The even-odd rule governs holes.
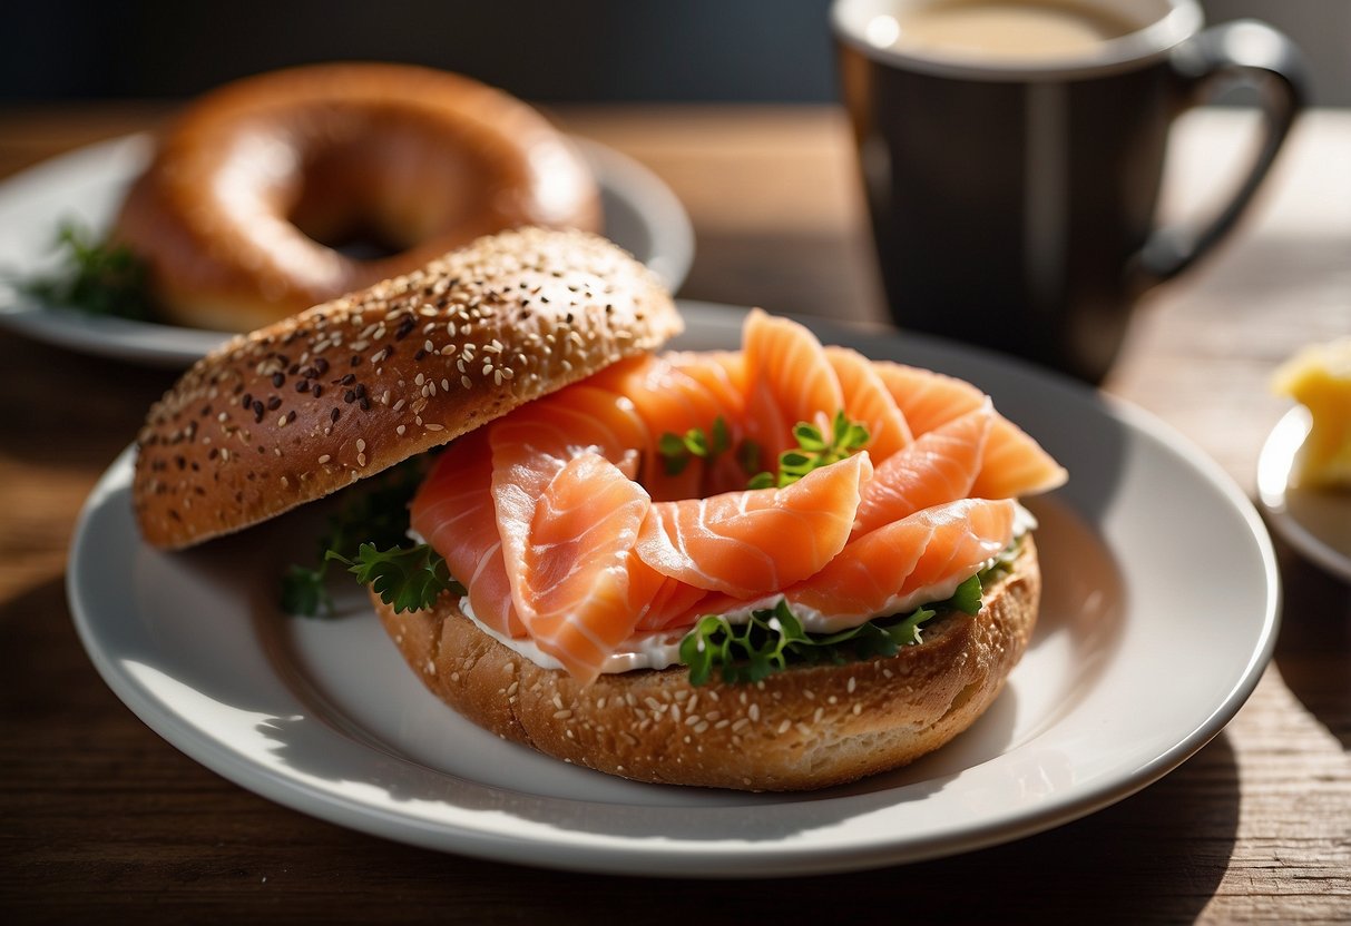
{"type": "MultiPolygon", "coordinates": [[[[680,200],[638,162],[596,142],[576,140],[600,182],[605,235],[677,290],[694,259],[694,232],[680,200]]],[[[149,135],[130,135],[53,158],[0,184],[0,327],[85,354],[170,369],[188,366],[228,337],[46,305],[14,285],[54,266],[51,247],[62,221],[109,227],[151,153],[149,135]]]]}

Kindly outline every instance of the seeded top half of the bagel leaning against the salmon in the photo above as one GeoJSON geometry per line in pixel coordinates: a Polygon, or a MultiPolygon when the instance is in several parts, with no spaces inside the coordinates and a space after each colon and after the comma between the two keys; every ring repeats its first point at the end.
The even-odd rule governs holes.
{"type": "Polygon", "coordinates": [[[682,323],[601,238],[485,238],[197,362],[138,436],[132,505],[151,544],[238,530],[444,444],[682,323]]]}

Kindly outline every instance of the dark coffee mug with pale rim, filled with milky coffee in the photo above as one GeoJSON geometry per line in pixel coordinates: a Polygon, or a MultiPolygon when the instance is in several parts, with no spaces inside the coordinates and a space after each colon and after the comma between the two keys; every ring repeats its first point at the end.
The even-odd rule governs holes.
{"type": "Polygon", "coordinates": [[[1231,231],[1305,100],[1298,50],[1193,0],[836,0],[840,82],[893,321],[1089,382],[1131,309],[1231,231]],[[1208,224],[1158,227],[1169,127],[1225,78],[1263,138],[1208,224]]]}

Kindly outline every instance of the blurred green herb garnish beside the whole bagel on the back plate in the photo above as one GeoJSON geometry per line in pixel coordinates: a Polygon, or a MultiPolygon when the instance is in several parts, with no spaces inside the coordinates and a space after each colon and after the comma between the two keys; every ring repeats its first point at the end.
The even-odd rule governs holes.
{"type": "Polygon", "coordinates": [[[155,316],[150,271],[127,247],[99,240],[76,223],[57,234],[59,267],[46,277],[19,281],[19,289],[46,302],[89,315],[149,321],[155,316]]]}

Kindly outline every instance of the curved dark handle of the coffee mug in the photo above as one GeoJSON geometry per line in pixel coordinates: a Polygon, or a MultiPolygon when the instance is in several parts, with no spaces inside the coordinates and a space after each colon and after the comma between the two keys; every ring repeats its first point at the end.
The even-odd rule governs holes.
{"type": "Polygon", "coordinates": [[[1205,30],[1173,54],[1171,65],[1193,96],[1189,105],[1197,105],[1201,97],[1209,96],[1209,88],[1217,78],[1239,76],[1256,84],[1262,90],[1265,135],[1247,177],[1208,227],[1197,231],[1169,225],[1150,235],[1138,256],[1142,289],[1178,275],[1233,229],[1309,96],[1300,49],[1270,26],[1254,20],[1205,30]]]}

